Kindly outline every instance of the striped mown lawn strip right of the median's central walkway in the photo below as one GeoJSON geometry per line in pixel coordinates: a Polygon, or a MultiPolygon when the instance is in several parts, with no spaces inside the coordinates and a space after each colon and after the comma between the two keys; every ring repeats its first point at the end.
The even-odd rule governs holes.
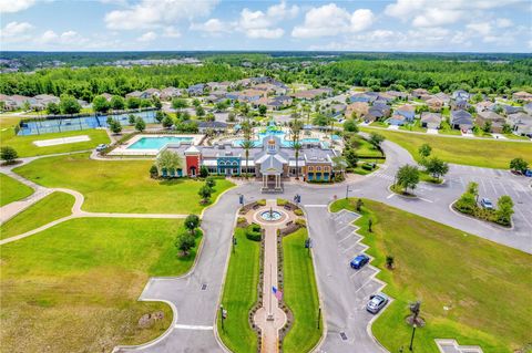
{"type": "Polygon", "coordinates": [[[321,338],[318,330],[318,289],[313,258],[305,249],[306,228],[283,238],[284,300],[294,314],[294,324],[283,341],[283,352],[310,352],[321,338]]]}

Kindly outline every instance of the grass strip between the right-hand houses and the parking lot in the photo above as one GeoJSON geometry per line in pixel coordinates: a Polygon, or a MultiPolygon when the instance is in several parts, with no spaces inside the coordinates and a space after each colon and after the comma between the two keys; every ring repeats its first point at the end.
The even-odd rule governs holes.
{"type": "MultiPolygon", "coordinates": [[[[376,131],[367,127],[362,129],[368,133],[376,131]]],[[[513,158],[530,159],[529,156],[532,156],[532,143],[453,138],[382,129],[378,133],[406,148],[418,162],[418,148],[422,144],[429,144],[432,147],[432,155],[446,162],[485,168],[508,169],[513,158]]]]}

